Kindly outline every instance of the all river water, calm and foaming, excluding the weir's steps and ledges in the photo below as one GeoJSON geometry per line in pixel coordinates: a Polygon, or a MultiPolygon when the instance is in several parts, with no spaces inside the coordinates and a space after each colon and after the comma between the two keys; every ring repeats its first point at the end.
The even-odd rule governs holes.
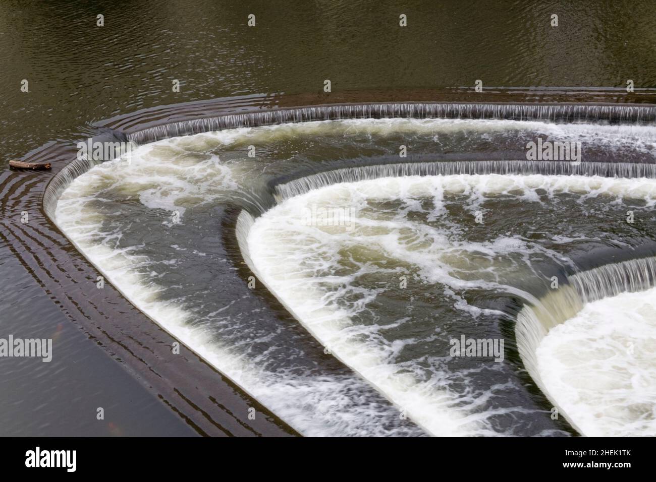
{"type": "MultiPolygon", "coordinates": [[[[302,1],[284,7],[262,2],[250,10],[236,1],[102,8],[65,1],[3,3],[0,163],[5,169],[9,159],[52,140],[74,145],[96,134],[97,121],[157,106],[237,97],[242,105],[276,106],[289,94],[331,102],[322,92],[325,79],[335,95],[434,89],[432,100],[449,89],[469,92],[476,79],[483,82],[483,101],[495,92],[577,101],[597,100],[603,92],[622,102],[627,79],[634,81],[636,97],[651,94],[656,33],[650,3],[560,8],[512,1],[403,6],[356,1],[320,8],[302,1]],[[256,14],[255,28],[246,25],[249,13],[256,14]],[[406,28],[398,26],[401,13],[407,14],[406,28]],[[556,28],[550,26],[554,13],[556,28]],[[98,14],[104,15],[104,27],[96,26],[98,14]],[[22,79],[29,92],[21,92],[22,79]],[[174,79],[179,92],[172,89],[174,79]]],[[[359,94],[349,95],[358,101],[359,94]]],[[[362,97],[385,100],[385,95],[362,97]]],[[[478,338],[480,332],[512,345],[508,305],[530,301],[527,292],[537,304],[548,283],[536,279],[565,280],[595,268],[598,252],[608,260],[651,255],[650,180],[564,181],[554,177],[562,173],[556,167],[518,172],[516,165],[485,165],[488,159],[523,159],[523,146],[537,136],[583,142],[585,161],[625,163],[623,171],[588,166],[573,174],[650,177],[635,167],[653,161],[653,127],[644,123],[307,123],[141,146],[130,165],[100,165],[75,180],[57,207],[56,223],[134,304],[181,339],[189,336],[190,345],[201,343],[204,348],[193,348],[301,433],[625,434],[619,427],[627,425],[630,433],[651,433],[653,397],[641,387],[653,386],[653,360],[633,363],[620,349],[633,343],[633,353],[650,350],[649,342],[630,339],[636,319],[644,321],[644,340],[651,339],[653,321],[644,298],[617,300],[613,306],[647,308],[630,323],[619,315],[605,328],[597,323],[605,348],[586,350],[584,362],[593,372],[607,372],[595,350],[626,355],[617,361],[623,376],[616,380],[581,388],[580,375],[572,372],[581,362],[571,360],[580,347],[572,340],[607,312],[592,302],[571,326],[558,327],[564,333],[550,332],[539,349],[527,344],[524,361],[527,351],[535,351],[528,371],[542,378],[546,396],[523,390],[531,379],[522,374],[521,347],[511,346],[502,363],[447,359],[449,340],[461,334],[478,338]],[[390,179],[398,172],[389,167],[356,172],[398,162],[400,144],[410,146],[409,160],[417,163],[417,171],[405,173],[424,177],[390,179]],[[255,159],[246,153],[251,145],[255,159]],[[479,176],[462,178],[470,173],[462,166],[435,167],[449,156],[482,163],[479,176]],[[335,169],[350,170],[342,173],[348,184],[341,188],[331,187],[334,179],[299,180],[335,169]],[[537,177],[499,180],[500,173],[537,177]],[[277,191],[268,189],[272,183],[277,191]],[[306,192],[308,186],[320,189],[306,192]],[[230,308],[234,292],[221,298],[216,277],[226,262],[216,253],[210,261],[213,210],[239,205],[255,216],[274,201],[279,205],[252,228],[251,220],[244,221],[251,231],[241,245],[250,251],[258,283],[266,283],[297,316],[298,323],[284,329],[244,314],[247,305],[230,308]],[[331,226],[316,226],[321,222],[315,218],[313,226],[308,212],[316,216],[318,207],[346,216],[351,225],[333,232],[331,226]],[[635,224],[625,222],[629,210],[635,224]],[[476,211],[483,214],[484,236],[476,232],[476,211]],[[179,223],[171,222],[173,212],[179,223]],[[330,237],[319,243],[319,233],[330,237]],[[302,249],[289,251],[289,240],[302,249]],[[626,254],[634,251],[635,256],[626,254]],[[281,266],[305,281],[280,279],[281,266]],[[409,284],[400,291],[403,273],[409,284]],[[412,307],[416,311],[408,313],[412,307]],[[619,332],[618,323],[624,327],[619,332]],[[194,329],[184,332],[187,327],[194,329]],[[540,376],[544,366],[554,367],[550,376],[540,376]],[[615,392],[600,396],[600,387],[615,392]],[[554,406],[567,421],[552,420],[554,406]],[[628,408],[613,411],[619,406],[628,408]],[[321,416],[310,407],[320,407],[321,416]],[[400,418],[400,409],[407,419],[400,418]],[[591,413],[610,414],[602,417],[609,422],[596,424],[591,413]]],[[[182,418],[98,350],[89,332],[70,323],[56,294],[21,261],[24,247],[11,241],[17,218],[8,200],[35,186],[37,178],[26,176],[33,174],[4,171],[0,178],[0,283],[7,293],[0,336],[56,335],[56,350],[66,356],[51,364],[1,360],[2,434],[193,435],[182,418]],[[112,420],[98,423],[96,407],[110,407],[112,420]],[[80,416],[83,412],[89,416],[80,416]]]]}

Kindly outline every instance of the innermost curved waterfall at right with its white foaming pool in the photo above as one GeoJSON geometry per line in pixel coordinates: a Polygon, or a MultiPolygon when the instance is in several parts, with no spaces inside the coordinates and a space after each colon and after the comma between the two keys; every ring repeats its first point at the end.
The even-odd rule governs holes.
{"type": "Polygon", "coordinates": [[[583,433],[655,433],[654,287],[656,258],[606,264],[568,276],[517,317],[527,370],[583,433]]]}

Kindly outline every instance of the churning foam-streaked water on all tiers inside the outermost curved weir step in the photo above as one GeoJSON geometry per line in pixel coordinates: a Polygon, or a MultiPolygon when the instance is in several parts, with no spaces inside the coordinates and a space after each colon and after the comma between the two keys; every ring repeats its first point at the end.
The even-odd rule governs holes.
{"type": "Polygon", "coordinates": [[[656,251],[655,155],[649,126],[232,129],[97,165],[55,216],[136,306],[306,435],[564,435],[565,417],[586,435],[653,435],[653,279],[615,298],[567,293],[579,271],[656,251]],[[584,162],[528,163],[537,136],[581,142],[584,162]],[[237,277],[230,207],[250,213],[255,282],[297,321],[266,317],[237,277]],[[502,360],[453,356],[463,335],[503,340],[502,360]]]}

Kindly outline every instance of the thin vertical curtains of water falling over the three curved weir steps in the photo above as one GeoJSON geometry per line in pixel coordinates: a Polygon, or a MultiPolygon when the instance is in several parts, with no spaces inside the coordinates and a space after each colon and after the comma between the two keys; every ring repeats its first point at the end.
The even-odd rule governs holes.
{"type": "MultiPolygon", "coordinates": [[[[190,119],[173,123],[163,123],[155,127],[130,132],[105,131],[104,140],[121,142],[130,140],[144,144],[200,132],[275,125],[279,123],[321,121],[330,119],[364,119],[384,117],[448,118],[448,119],[511,119],[518,121],[539,120],[556,123],[627,123],[651,125],[656,122],[654,106],[586,105],[586,104],[478,104],[478,103],[440,103],[440,102],[396,102],[381,104],[340,104],[335,106],[312,106],[285,108],[270,111],[225,114],[216,117],[190,119]]],[[[72,159],[56,173],[43,193],[43,209],[54,220],[54,208],[62,191],[77,176],[89,171],[99,161],[72,159]]],[[[331,169],[300,176],[297,179],[281,180],[280,184],[268,186],[275,202],[289,199],[310,190],[339,182],[356,182],[388,176],[447,174],[556,174],[586,175],[605,177],[648,177],[656,178],[656,165],[646,163],[583,162],[573,166],[569,161],[527,161],[523,159],[500,160],[458,160],[458,161],[408,161],[402,163],[383,163],[331,169]]],[[[270,205],[262,205],[260,210],[270,205]]],[[[261,212],[254,212],[258,215],[261,212]]],[[[243,240],[253,223],[253,217],[242,211],[236,222],[236,238],[241,247],[241,256],[254,268],[243,240]]],[[[654,261],[631,260],[618,266],[602,266],[568,277],[569,284],[562,287],[558,295],[541,299],[540,306],[524,306],[518,315],[516,338],[525,367],[544,391],[535,370],[535,348],[548,329],[562,323],[571,313],[581,310],[584,303],[599,299],[597,296],[613,296],[617,290],[628,287],[632,291],[653,286],[654,261]],[[598,270],[598,271],[596,271],[598,270]],[[605,293],[605,294],[604,294],[605,293]],[[556,299],[557,298],[557,299],[556,299]],[[553,310],[553,311],[552,311],[553,310]],[[546,314],[549,313],[549,314],[546,314]]],[[[255,270],[254,270],[255,271],[255,270]]],[[[619,291],[621,292],[621,291],[619,291]]]]}

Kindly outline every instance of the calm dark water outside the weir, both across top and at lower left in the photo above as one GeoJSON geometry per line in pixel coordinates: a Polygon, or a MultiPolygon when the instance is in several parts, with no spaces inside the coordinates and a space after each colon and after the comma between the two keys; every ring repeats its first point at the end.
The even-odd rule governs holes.
{"type": "MultiPolygon", "coordinates": [[[[144,108],[349,90],[656,87],[653,3],[18,2],[0,5],[0,190],[9,159],[144,108]],[[247,15],[256,14],[256,27],[247,15]],[[407,28],[399,28],[399,14],[407,28]],[[550,14],[559,26],[550,26],[550,14]],[[102,28],[96,15],[104,15],[102,28]],[[30,92],[20,91],[28,79],[30,92]],[[180,81],[180,92],[171,89],[180,81]]],[[[512,90],[510,90],[512,92],[512,90]]],[[[537,94],[536,94],[537,95],[537,94]]],[[[483,92],[481,100],[487,98],[483,92]]],[[[329,100],[329,96],[327,96],[329,100]]],[[[439,100],[439,99],[436,99],[439,100]]],[[[33,175],[33,174],[27,174],[33,175]]],[[[29,189],[30,183],[21,189],[29,189]]],[[[0,218],[10,226],[5,205],[0,218]]],[[[75,329],[0,237],[0,336],[56,334],[46,364],[0,359],[0,435],[192,435],[75,329]],[[96,407],[112,416],[95,418],[96,407]]],[[[54,336],[53,336],[54,337],[54,336]]]]}

